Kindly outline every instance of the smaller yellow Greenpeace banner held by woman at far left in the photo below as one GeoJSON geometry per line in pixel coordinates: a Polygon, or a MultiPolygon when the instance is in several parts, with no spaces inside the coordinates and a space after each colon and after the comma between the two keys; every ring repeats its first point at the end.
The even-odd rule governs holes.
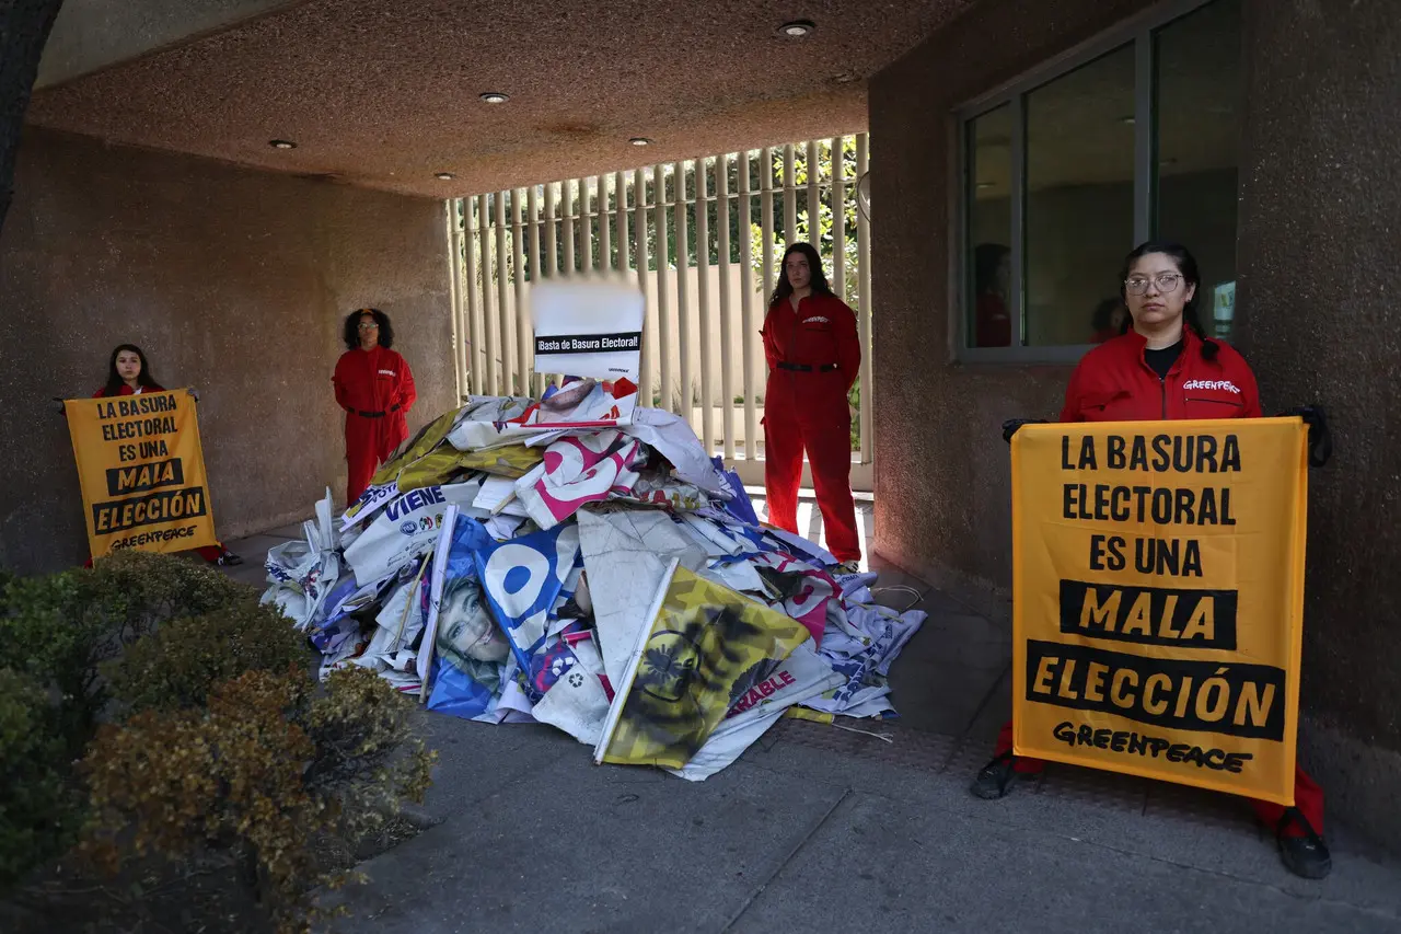
{"type": "Polygon", "coordinates": [[[94,558],[217,544],[188,390],[63,402],[94,558]]]}

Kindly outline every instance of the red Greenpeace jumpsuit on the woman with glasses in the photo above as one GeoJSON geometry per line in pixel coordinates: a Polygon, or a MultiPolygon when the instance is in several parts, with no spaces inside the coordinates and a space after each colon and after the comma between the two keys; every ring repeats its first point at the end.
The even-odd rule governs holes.
{"type": "MultiPolygon", "coordinates": [[[[1202,358],[1202,341],[1191,330],[1184,332],[1184,346],[1166,379],[1143,359],[1147,342],[1135,331],[1105,341],[1084,355],[1065,390],[1062,422],[1159,421],[1184,418],[1259,418],[1259,390],[1255,374],[1233,348],[1216,341],[1220,351],[1215,360],[1202,358]]],[[[1012,722],[998,736],[996,754],[1012,750],[1012,722]]],[[[1023,774],[1040,773],[1040,759],[1016,759],[1023,774]]],[[[1269,827],[1276,827],[1285,808],[1267,801],[1252,801],[1255,813],[1269,827]]],[[[1295,766],[1295,806],[1323,834],[1323,788],[1295,766]]],[[[1306,836],[1297,823],[1285,826],[1286,836],[1306,836]]]]}

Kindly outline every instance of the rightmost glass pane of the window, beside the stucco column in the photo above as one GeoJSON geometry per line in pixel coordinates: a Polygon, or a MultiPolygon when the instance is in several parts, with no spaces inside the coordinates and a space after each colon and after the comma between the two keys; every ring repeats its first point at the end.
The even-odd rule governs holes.
{"type": "Polygon", "coordinates": [[[1157,34],[1157,234],[1201,266],[1202,327],[1229,339],[1236,309],[1240,11],[1212,3],[1157,34]]]}

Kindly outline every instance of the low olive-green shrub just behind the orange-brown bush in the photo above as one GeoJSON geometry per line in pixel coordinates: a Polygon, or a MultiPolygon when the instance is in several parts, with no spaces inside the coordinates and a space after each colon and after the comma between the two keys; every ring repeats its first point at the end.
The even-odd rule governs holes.
{"type": "Polygon", "coordinates": [[[125,712],[203,707],[209,693],[244,672],[310,670],[311,652],[291,621],[244,603],[172,620],[108,662],[104,673],[125,712]]]}

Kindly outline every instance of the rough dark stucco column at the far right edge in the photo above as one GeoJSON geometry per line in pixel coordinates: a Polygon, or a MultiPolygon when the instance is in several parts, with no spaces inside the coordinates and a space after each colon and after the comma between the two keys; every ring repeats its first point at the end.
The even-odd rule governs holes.
{"type": "Polygon", "coordinates": [[[1401,1],[1248,0],[1244,25],[1241,344],[1267,412],[1320,402],[1334,432],[1309,478],[1302,756],[1394,844],[1401,1]]]}

